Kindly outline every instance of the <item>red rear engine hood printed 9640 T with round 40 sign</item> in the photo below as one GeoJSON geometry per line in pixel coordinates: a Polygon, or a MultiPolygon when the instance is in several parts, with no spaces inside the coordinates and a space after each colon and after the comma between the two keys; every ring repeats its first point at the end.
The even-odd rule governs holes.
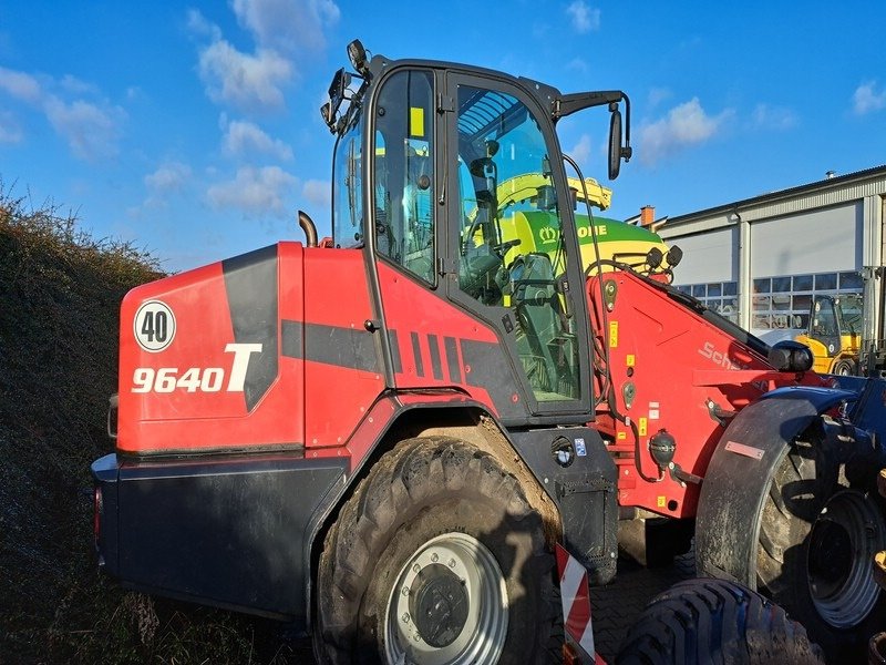
{"type": "Polygon", "coordinates": [[[246,294],[275,310],[271,320],[261,321],[266,338],[260,349],[249,330],[237,338],[233,319],[248,320],[250,313],[235,311],[241,305],[233,304],[223,263],[141,286],[124,298],[119,450],[151,453],[303,442],[303,361],[280,356],[276,314],[279,308],[285,317],[303,318],[303,250],[284,243],[255,254],[238,257],[244,260],[234,268],[240,270],[240,288],[249,287],[255,266],[265,277],[254,294],[246,294]],[[168,313],[165,335],[171,339],[162,350],[143,348],[151,336],[146,303],[159,304],[148,306],[155,315],[168,313]],[[250,390],[248,372],[257,364],[268,368],[267,376],[265,385],[250,390]]]}

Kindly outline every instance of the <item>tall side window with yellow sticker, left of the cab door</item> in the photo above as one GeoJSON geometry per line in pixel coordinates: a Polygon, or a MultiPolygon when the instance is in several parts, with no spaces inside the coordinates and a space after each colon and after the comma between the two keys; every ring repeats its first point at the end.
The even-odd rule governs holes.
{"type": "Polygon", "coordinates": [[[434,280],[433,80],[405,71],[384,82],[375,106],[375,247],[434,280]]]}

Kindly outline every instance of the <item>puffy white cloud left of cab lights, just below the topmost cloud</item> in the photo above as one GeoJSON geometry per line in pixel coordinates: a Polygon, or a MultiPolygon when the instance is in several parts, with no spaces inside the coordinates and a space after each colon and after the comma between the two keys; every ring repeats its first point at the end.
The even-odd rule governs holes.
{"type": "Polygon", "coordinates": [[[280,109],[281,86],[291,80],[293,69],[275,51],[249,55],[219,40],[200,52],[199,73],[215,102],[245,110],[280,109]]]}

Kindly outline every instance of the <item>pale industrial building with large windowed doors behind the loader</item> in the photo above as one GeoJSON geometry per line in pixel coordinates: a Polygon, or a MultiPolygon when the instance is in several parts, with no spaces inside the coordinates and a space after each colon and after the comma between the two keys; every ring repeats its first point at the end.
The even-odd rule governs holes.
{"type": "MultiPolygon", "coordinates": [[[[886,165],[828,173],[656,226],[683,250],[676,286],[774,344],[806,329],[815,295],[863,293],[866,268],[884,265],[884,222],[886,165]]],[[[866,304],[874,329],[880,283],[872,280],[866,304]]]]}

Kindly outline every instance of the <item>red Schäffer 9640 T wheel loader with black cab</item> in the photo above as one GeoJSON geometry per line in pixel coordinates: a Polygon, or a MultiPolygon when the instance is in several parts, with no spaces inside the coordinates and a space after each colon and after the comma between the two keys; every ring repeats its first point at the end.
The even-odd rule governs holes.
{"type": "Polygon", "coordinates": [[[332,237],[302,213],[305,244],[123,300],[104,570],[292,622],[322,662],[528,663],[555,544],[606,584],[619,519],[656,516],[652,555],[694,534],[701,574],[862,644],[883,381],[835,387],[668,286],[658,248],[585,265],[556,125],[608,108],[615,178],[622,92],[349,57],[321,109],[332,237]]]}

